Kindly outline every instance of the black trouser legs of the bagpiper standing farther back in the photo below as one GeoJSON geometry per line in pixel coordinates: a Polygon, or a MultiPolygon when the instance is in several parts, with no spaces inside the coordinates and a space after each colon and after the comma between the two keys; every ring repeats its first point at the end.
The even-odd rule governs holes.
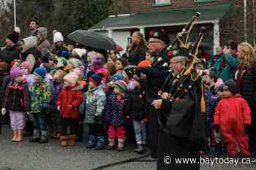
{"type": "Polygon", "coordinates": [[[157,158],[157,147],[158,147],[158,114],[159,110],[155,109],[153,106],[148,106],[148,142],[150,144],[151,149],[151,157],[157,158]]]}

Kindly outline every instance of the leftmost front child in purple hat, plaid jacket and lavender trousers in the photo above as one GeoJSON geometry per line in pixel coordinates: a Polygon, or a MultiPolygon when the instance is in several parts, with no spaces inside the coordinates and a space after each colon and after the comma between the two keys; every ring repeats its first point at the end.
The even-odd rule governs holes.
{"type": "Polygon", "coordinates": [[[5,115],[8,109],[11,117],[13,131],[12,142],[22,142],[22,130],[24,128],[24,112],[30,112],[29,87],[23,79],[21,70],[17,67],[10,71],[11,82],[7,86],[4,104],[1,109],[5,115]]]}

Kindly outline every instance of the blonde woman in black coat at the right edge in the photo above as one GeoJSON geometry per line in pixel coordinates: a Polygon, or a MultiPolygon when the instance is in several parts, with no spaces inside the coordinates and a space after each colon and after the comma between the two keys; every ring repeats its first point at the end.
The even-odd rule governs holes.
{"type": "Polygon", "coordinates": [[[236,70],[235,79],[239,93],[246,99],[251,109],[252,126],[249,133],[249,147],[252,161],[256,163],[256,54],[252,45],[241,42],[238,45],[237,55],[241,63],[236,70]]]}

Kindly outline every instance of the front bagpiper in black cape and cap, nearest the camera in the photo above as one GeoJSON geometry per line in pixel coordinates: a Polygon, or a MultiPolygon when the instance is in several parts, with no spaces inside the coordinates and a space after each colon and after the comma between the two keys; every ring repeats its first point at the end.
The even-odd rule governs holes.
{"type": "MultiPolygon", "coordinates": [[[[161,110],[158,112],[157,170],[199,170],[199,163],[176,163],[175,158],[197,158],[199,161],[200,150],[206,149],[207,126],[203,114],[202,80],[200,76],[190,80],[191,74],[181,74],[189,57],[187,48],[173,50],[170,69],[175,75],[171,79],[170,92],[163,93],[163,99],[152,102],[152,106],[161,110]]],[[[192,72],[198,75],[196,71],[192,72]]]]}

